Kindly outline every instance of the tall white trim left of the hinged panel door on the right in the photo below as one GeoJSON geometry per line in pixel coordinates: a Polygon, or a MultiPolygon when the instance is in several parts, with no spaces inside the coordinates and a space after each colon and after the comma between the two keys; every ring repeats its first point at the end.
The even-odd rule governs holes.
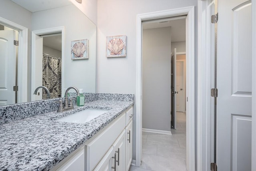
{"type": "Polygon", "coordinates": [[[213,115],[213,98],[210,95],[212,78],[211,45],[211,6],[209,0],[198,1],[198,111],[197,111],[197,169],[210,170],[214,162],[213,144],[211,142],[211,115],[213,115]]]}

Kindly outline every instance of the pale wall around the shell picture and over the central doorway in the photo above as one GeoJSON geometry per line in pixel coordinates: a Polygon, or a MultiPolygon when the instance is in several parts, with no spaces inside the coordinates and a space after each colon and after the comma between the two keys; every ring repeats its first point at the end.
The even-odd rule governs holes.
{"type": "MultiPolygon", "coordinates": [[[[134,93],[136,96],[136,15],[185,6],[197,6],[197,0],[98,0],[96,91],[134,93]],[[125,58],[106,58],[106,36],[114,35],[127,35],[125,58]]],[[[195,38],[197,38],[197,8],[195,8],[195,38]]],[[[195,44],[196,57],[197,39],[195,44]]],[[[195,68],[197,68],[197,58],[195,58],[195,68]]],[[[197,78],[195,82],[197,83],[197,78]]],[[[136,105],[134,105],[134,114],[136,115],[136,105]]],[[[133,130],[136,130],[135,118],[133,130]]],[[[134,144],[135,141],[134,134],[134,144]]],[[[133,159],[135,159],[135,148],[133,148],[133,159]]]]}

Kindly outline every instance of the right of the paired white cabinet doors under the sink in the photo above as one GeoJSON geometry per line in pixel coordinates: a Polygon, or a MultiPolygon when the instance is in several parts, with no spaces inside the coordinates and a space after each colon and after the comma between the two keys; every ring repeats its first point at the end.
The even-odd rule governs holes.
{"type": "Polygon", "coordinates": [[[116,171],[125,170],[125,141],[125,130],[123,130],[113,144],[116,153],[116,171]]]}

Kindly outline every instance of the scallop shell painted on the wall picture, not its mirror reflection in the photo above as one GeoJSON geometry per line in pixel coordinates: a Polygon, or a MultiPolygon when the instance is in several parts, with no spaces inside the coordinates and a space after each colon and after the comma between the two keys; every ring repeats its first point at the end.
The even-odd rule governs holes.
{"type": "Polygon", "coordinates": [[[108,43],[108,50],[111,55],[120,55],[124,49],[124,42],[122,39],[114,38],[108,43]]]}

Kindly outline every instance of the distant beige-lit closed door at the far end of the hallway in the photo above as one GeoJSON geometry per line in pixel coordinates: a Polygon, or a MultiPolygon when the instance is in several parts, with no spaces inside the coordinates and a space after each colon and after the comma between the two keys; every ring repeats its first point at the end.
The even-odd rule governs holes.
{"type": "Polygon", "coordinates": [[[176,90],[178,93],[176,94],[176,111],[184,111],[184,97],[183,97],[183,61],[176,61],[176,90]]]}

